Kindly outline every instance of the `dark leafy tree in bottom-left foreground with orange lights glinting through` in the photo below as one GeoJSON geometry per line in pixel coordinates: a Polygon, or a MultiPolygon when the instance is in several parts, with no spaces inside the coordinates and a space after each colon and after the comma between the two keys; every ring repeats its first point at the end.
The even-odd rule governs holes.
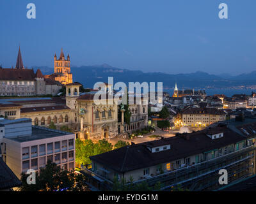
{"type": "Polygon", "coordinates": [[[22,173],[20,191],[83,191],[86,189],[83,175],[78,177],[74,170],[63,170],[50,160],[47,161],[45,168],[40,168],[40,174],[36,173],[36,184],[27,184],[28,176],[22,173]]]}

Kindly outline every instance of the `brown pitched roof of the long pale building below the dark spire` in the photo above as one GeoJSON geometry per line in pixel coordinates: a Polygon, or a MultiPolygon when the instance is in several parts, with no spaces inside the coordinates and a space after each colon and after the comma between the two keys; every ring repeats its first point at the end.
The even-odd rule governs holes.
{"type": "Polygon", "coordinates": [[[35,73],[33,69],[0,69],[0,80],[33,81],[35,73]]]}

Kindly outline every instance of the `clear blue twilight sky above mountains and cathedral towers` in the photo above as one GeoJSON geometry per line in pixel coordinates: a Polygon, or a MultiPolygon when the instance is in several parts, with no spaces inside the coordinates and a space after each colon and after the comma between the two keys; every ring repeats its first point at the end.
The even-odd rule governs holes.
{"type": "Polygon", "coordinates": [[[255,0],[1,0],[0,64],[107,63],[164,73],[256,71],[255,0]],[[26,17],[28,3],[36,19],[26,17]],[[218,17],[228,4],[228,19],[218,17]]]}

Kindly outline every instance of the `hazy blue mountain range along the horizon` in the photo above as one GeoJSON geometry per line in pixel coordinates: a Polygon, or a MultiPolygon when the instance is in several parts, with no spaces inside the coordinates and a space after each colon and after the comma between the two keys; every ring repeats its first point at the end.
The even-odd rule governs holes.
{"type": "MultiPolygon", "coordinates": [[[[53,73],[54,68],[46,66],[38,67],[44,75],[53,73]]],[[[36,66],[34,66],[36,69],[36,66]]],[[[129,69],[113,68],[108,64],[95,66],[72,67],[74,82],[80,82],[84,87],[93,87],[96,82],[108,82],[108,77],[114,77],[114,83],[125,82],[163,82],[163,87],[173,88],[175,82],[181,89],[187,88],[227,88],[227,87],[256,87],[256,71],[244,73],[237,76],[228,74],[210,75],[202,71],[186,74],[167,74],[161,72],[144,73],[143,71],[133,71],[129,69]]]]}

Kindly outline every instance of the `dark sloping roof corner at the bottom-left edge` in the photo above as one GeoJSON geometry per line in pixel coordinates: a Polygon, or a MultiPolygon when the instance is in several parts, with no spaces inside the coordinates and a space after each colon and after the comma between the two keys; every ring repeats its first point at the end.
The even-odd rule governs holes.
{"type": "Polygon", "coordinates": [[[20,180],[0,157],[0,189],[10,189],[21,186],[20,180]]]}

